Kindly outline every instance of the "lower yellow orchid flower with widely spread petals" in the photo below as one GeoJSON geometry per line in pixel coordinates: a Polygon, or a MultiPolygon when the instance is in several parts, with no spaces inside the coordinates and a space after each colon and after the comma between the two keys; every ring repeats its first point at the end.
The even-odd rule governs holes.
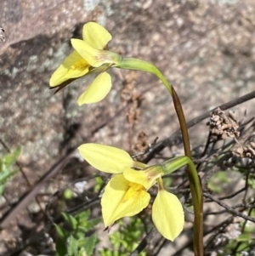
{"type": "Polygon", "coordinates": [[[94,168],[115,174],[105,186],[101,199],[106,227],[146,208],[150,202],[147,191],[157,182],[159,192],[152,207],[152,219],[157,230],[171,241],[183,230],[184,210],[178,197],[164,190],[161,165],[148,166],[134,161],[126,151],[108,145],[88,143],[79,146],[78,151],[94,168]]]}

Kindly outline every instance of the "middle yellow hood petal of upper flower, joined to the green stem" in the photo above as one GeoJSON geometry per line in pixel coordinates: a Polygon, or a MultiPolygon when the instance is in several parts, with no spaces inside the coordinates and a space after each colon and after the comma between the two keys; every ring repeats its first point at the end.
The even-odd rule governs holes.
{"type": "Polygon", "coordinates": [[[88,61],[89,65],[94,67],[104,64],[114,65],[120,62],[121,56],[119,54],[93,48],[83,40],[71,39],[71,45],[81,54],[84,60],[88,61]]]}

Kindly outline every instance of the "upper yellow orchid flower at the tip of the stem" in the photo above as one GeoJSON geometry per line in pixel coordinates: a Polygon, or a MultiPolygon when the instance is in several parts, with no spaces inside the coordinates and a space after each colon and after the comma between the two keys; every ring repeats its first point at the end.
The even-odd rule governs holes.
{"type": "Polygon", "coordinates": [[[64,88],[79,77],[94,72],[100,72],[94,82],[88,85],[86,91],[77,100],[78,105],[95,103],[103,100],[111,90],[111,76],[107,70],[120,62],[120,55],[105,50],[111,40],[111,34],[94,22],[83,26],[83,40],[71,39],[75,49],[49,80],[49,85],[56,90],[64,88]]]}

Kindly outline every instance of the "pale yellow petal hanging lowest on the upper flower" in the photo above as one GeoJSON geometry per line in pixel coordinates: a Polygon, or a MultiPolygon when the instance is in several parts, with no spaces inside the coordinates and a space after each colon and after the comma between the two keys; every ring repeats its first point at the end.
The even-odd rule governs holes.
{"type": "Polygon", "coordinates": [[[77,100],[78,105],[99,102],[111,90],[111,76],[107,72],[99,74],[77,100]]]}

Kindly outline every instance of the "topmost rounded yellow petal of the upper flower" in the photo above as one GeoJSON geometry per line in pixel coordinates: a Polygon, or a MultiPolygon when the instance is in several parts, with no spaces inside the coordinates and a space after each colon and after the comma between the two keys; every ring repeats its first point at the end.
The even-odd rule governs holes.
{"type": "Polygon", "coordinates": [[[111,34],[95,22],[88,22],[83,26],[83,40],[90,46],[97,49],[103,49],[111,40],[111,34]]]}

